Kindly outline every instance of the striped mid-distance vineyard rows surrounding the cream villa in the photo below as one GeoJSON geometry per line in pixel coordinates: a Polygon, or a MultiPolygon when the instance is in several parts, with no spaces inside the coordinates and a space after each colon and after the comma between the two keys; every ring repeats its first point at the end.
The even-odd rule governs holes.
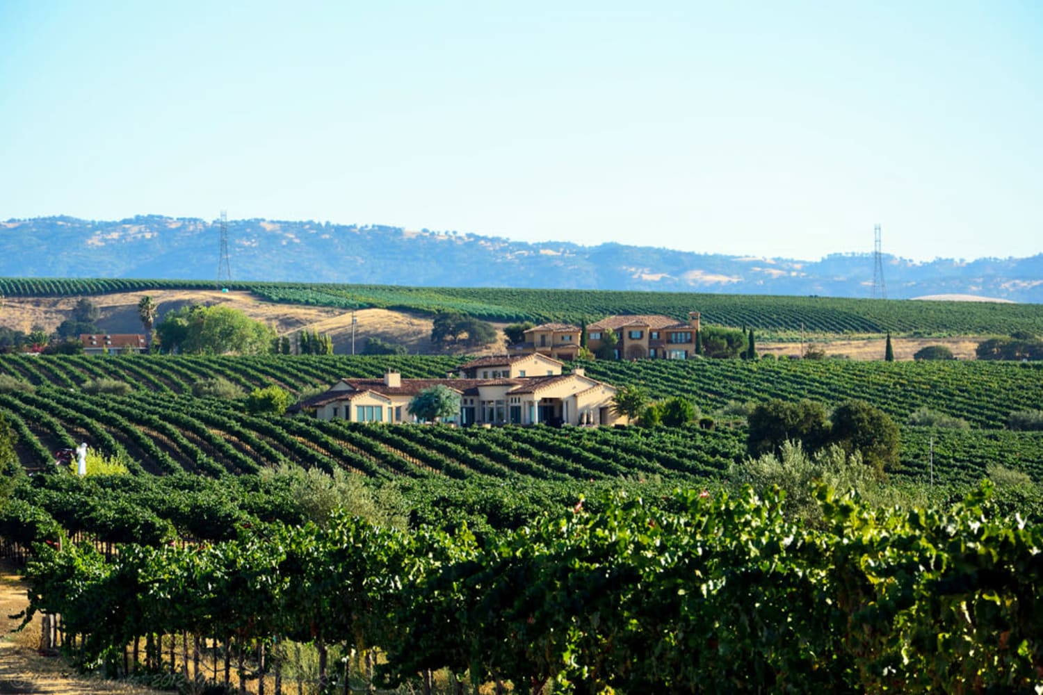
{"type": "MultiPolygon", "coordinates": [[[[3,355],[0,374],[31,390],[0,393],[0,407],[21,435],[23,466],[45,469],[52,452],[87,441],[125,454],[136,472],[220,476],[292,464],[396,476],[484,476],[541,480],[659,476],[714,477],[745,455],[745,430],[670,428],[454,429],[372,427],[309,417],[260,417],[242,402],[192,396],[193,384],[222,377],[250,390],[270,384],[293,394],[338,378],[444,376],[457,357],[269,355],[3,355]],[[126,396],[90,394],[91,379],[129,384],[126,396]]],[[[1001,363],[849,363],[840,361],[644,361],[585,363],[586,373],[618,386],[644,384],[657,398],[682,396],[704,413],[732,401],[811,398],[834,405],[860,398],[899,423],[926,405],[963,418],[970,430],[903,427],[898,476],[922,479],[931,442],[941,479],[973,481],[1002,464],[1043,479],[1043,438],[1002,429],[1012,411],[1043,403],[1043,370],[1001,363]],[[926,440],[926,441],[924,441],[926,440]]]]}

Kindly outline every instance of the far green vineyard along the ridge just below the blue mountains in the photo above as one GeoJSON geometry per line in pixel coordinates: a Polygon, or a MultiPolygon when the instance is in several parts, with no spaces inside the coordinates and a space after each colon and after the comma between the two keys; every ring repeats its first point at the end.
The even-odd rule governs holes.
{"type": "MultiPolygon", "coordinates": [[[[380,307],[407,312],[455,311],[488,321],[565,321],[579,324],[612,314],[664,314],[679,320],[690,311],[709,324],[755,328],[775,336],[818,333],[923,336],[1043,333],[1037,304],[868,300],[666,292],[411,288],[393,286],[235,281],[228,290],[294,304],[344,309],[380,307]]],[[[153,290],[213,290],[202,280],[127,278],[0,278],[0,295],[64,297],[153,290]]]]}

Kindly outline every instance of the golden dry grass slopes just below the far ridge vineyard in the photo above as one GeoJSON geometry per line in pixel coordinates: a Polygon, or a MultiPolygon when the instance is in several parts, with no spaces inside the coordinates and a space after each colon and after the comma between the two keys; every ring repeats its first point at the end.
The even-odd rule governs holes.
{"type": "MultiPolygon", "coordinates": [[[[91,297],[91,300],[101,309],[98,325],[114,333],[141,332],[138,301],[142,296],[144,296],[142,293],[121,293],[91,297]]],[[[338,354],[351,352],[351,313],[343,309],[328,306],[277,304],[264,301],[247,292],[161,290],[150,292],[149,296],[159,304],[161,319],[165,313],[190,303],[227,304],[253,319],[274,326],[280,336],[293,336],[299,330],[315,330],[328,333],[333,339],[334,351],[338,354]]],[[[0,309],[0,325],[26,332],[31,330],[33,326],[41,326],[50,332],[62,321],[69,318],[77,301],[77,297],[8,298],[0,309]]],[[[367,308],[356,312],[355,318],[358,321],[355,329],[356,352],[362,352],[366,340],[370,337],[404,345],[411,353],[429,354],[435,351],[431,344],[432,322],[429,317],[382,308],[367,308]]],[[[504,324],[494,325],[499,328],[503,327],[504,324]]],[[[822,347],[829,355],[846,355],[852,359],[882,359],[883,340],[882,337],[876,336],[860,339],[814,337],[809,339],[809,343],[814,342],[818,347],[822,347]]],[[[947,339],[896,337],[892,343],[895,358],[900,361],[912,359],[917,350],[927,345],[946,345],[957,358],[973,359],[974,347],[980,340],[980,338],[972,336],[947,339]]],[[[501,336],[500,342],[484,352],[504,352],[505,349],[506,341],[501,336]]],[[[796,355],[800,353],[800,344],[758,343],[757,350],[761,353],[774,353],[780,356],[796,355]]]]}

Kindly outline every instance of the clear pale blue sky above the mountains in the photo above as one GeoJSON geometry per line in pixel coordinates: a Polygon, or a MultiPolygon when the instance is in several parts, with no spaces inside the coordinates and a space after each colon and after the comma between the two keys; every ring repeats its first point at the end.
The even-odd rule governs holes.
{"type": "Polygon", "coordinates": [[[1043,252],[1043,2],[0,0],[0,219],[1043,252]]]}

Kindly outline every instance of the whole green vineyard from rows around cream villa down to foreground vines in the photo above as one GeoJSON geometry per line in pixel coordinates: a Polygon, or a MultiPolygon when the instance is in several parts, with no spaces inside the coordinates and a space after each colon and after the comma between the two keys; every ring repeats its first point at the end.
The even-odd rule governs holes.
{"type": "Polygon", "coordinates": [[[1037,366],[583,363],[708,414],[856,397],[899,422],[927,405],[972,423],[902,427],[892,481],[927,490],[931,510],[822,489],[816,524],[728,486],[746,429],[724,414],[713,428],[454,428],[252,416],[242,399],[193,396],[215,377],[307,396],[460,363],[0,355],[0,412],[33,473],[0,505],[0,539],[33,548],[29,617],[83,668],[259,695],[1032,692],[1039,500],[960,500],[997,464],[1043,480],[1043,432],[1002,428],[1043,402],[1037,366]],[[130,393],[83,389],[98,380],[130,393]],[[57,471],[53,452],[79,442],[130,474],[57,471]],[[1001,516],[1015,511],[1021,522],[1001,516]]]}

